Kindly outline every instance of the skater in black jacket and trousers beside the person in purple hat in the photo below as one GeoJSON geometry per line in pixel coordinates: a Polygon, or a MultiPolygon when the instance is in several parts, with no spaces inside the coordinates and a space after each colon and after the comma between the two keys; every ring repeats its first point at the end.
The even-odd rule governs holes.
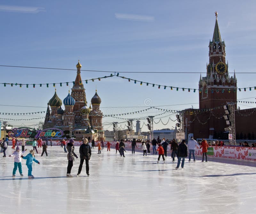
{"type": "Polygon", "coordinates": [[[84,139],[84,143],[80,146],[79,154],[80,154],[80,165],[79,165],[79,168],[78,168],[77,176],[79,176],[81,171],[82,171],[84,161],[85,161],[85,165],[86,165],[85,166],[86,167],[86,174],[87,174],[87,176],[89,176],[90,175],[89,174],[89,160],[90,160],[91,155],[92,155],[92,150],[91,150],[91,147],[88,144],[88,139],[87,138],[84,139]]]}

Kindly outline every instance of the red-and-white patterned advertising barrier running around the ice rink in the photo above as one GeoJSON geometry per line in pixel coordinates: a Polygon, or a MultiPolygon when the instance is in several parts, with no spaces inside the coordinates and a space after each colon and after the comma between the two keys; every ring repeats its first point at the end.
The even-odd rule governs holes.
{"type": "MultiPolygon", "coordinates": [[[[43,141],[45,143],[45,141],[43,141]]],[[[68,143],[68,142],[67,142],[68,143]]],[[[75,141],[74,146],[80,146],[82,141],[75,141]]],[[[95,141],[95,146],[100,143],[100,141],[95,141]]],[[[109,141],[111,149],[115,149],[116,141],[109,141]]],[[[37,144],[37,142],[36,142],[37,144]]],[[[125,148],[132,149],[132,142],[124,142],[125,148]]],[[[142,143],[138,143],[137,148],[135,147],[135,151],[141,151],[142,143]]],[[[9,141],[9,145],[10,141],[9,141]]],[[[18,140],[17,145],[21,145],[21,141],[18,140]]],[[[26,144],[25,144],[26,145],[26,144]]],[[[48,140],[48,146],[51,145],[48,140]]],[[[52,140],[53,146],[60,146],[60,140],[54,141],[52,140]]],[[[27,146],[31,146],[28,144],[27,146]]],[[[107,141],[104,141],[104,147],[107,147],[107,141]]],[[[156,145],[156,149],[158,146],[156,145]]],[[[152,145],[150,144],[150,152],[152,153],[152,145]]],[[[171,146],[168,145],[167,153],[171,153],[171,146]]],[[[195,155],[200,157],[203,155],[202,149],[199,149],[196,146],[195,155]]],[[[216,158],[216,159],[233,159],[233,160],[248,160],[248,161],[256,161],[256,147],[242,147],[242,146],[209,146],[207,157],[216,158]]]]}

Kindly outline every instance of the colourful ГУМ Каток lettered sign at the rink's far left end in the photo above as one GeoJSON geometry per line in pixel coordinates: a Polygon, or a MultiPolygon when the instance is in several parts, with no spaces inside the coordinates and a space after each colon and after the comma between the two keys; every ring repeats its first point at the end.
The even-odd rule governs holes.
{"type": "Polygon", "coordinates": [[[8,132],[9,137],[25,137],[30,138],[30,135],[33,131],[36,131],[35,138],[38,137],[61,137],[63,135],[63,131],[61,129],[43,129],[43,130],[35,130],[29,128],[14,128],[12,131],[8,132]]]}

